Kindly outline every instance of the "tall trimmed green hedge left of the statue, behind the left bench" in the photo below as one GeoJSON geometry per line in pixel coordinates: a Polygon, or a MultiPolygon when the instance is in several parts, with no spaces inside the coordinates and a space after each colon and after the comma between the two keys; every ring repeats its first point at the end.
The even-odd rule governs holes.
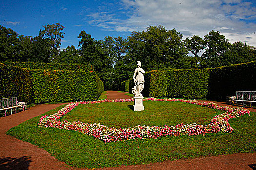
{"type": "Polygon", "coordinates": [[[0,63],[0,98],[28,103],[97,100],[104,90],[95,72],[26,69],[0,63]]]}

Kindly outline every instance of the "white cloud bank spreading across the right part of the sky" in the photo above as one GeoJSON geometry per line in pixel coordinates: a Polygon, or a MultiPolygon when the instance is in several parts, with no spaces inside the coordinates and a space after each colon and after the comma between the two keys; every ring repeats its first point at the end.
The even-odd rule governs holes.
{"type": "Polygon", "coordinates": [[[87,16],[89,23],[119,32],[163,25],[185,33],[184,36],[201,37],[218,30],[231,42],[246,40],[256,46],[256,8],[243,0],[122,0],[122,3],[126,18],[100,11],[87,16]]]}

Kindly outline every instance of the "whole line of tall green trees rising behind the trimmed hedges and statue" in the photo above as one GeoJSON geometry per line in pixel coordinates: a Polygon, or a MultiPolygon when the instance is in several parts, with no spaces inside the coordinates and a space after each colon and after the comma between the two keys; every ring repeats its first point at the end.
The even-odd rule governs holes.
{"type": "Polygon", "coordinates": [[[105,89],[119,89],[122,81],[132,77],[138,60],[145,70],[215,68],[256,60],[256,47],[240,41],[232,44],[214,30],[203,38],[183,39],[175,29],[149,26],[127,39],[107,36],[98,41],[81,31],[78,49],[71,45],[60,50],[65,27],[56,23],[43,28],[31,37],[0,25],[0,61],[91,64],[105,89]]]}

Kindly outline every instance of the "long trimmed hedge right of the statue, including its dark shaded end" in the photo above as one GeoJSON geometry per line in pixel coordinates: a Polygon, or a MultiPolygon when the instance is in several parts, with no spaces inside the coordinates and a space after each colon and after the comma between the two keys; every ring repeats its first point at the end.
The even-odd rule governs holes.
{"type": "Polygon", "coordinates": [[[236,91],[256,91],[256,61],[212,69],[151,70],[144,96],[225,101],[236,91]]]}

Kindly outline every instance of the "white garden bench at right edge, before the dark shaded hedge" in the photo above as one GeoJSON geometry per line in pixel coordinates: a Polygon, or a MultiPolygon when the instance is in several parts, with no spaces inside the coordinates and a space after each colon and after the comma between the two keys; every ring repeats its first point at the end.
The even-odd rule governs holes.
{"type": "Polygon", "coordinates": [[[231,97],[231,101],[236,102],[250,102],[250,107],[252,106],[252,102],[256,102],[256,91],[236,91],[236,96],[231,97]]]}

